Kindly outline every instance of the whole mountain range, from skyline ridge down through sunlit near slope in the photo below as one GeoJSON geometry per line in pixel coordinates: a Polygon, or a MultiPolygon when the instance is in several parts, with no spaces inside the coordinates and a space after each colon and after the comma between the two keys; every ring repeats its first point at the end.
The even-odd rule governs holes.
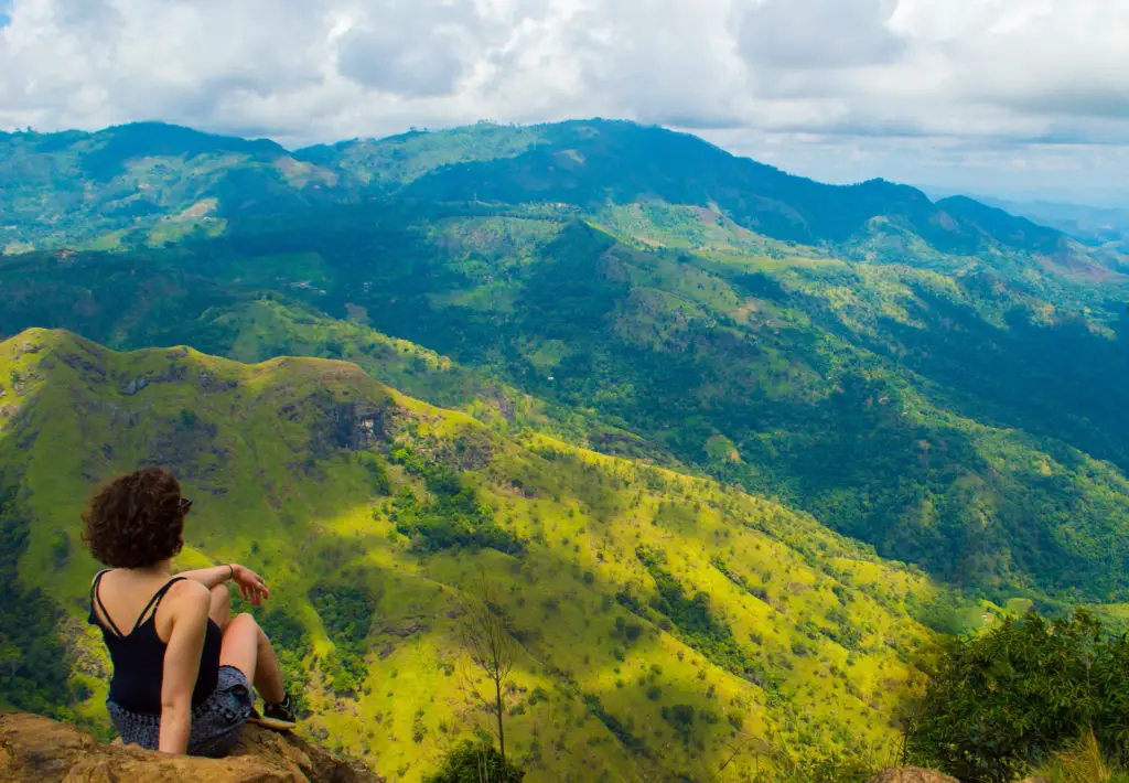
{"type": "MultiPolygon", "coordinates": [[[[71,543],[84,496],[174,466],[217,508],[191,557],[285,565],[297,598],[274,627],[334,736],[374,710],[403,733],[422,711],[411,746],[344,742],[383,774],[412,778],[440,722],[471,720],[444,679],[443,617],[475,564],[515,601],[537,591],[507,611],[543,634],[523,640],[522,687],[552,698],[516,720],[544,780],[590,780],[576,737],[610,780],[698,780],[694,759],[745,736],[856,758],[891,740],[934,634],[1032,604],[1127,616],[1115,245],[603,120],[300,150],[159,123],[0,136],[0,450],[25,588],[69,611],[93,567],[71,543]],[[202,395],[202,377],[235,385],[202,395]],[[478,532],[452,541],[443,519],[478,532]],[[754,533],[780,554],[758,559],[754,533]],[[349,576],[320,585],[332,574],[349,576]],[[358,629],[332,619],[341,603],[399,619],[358,629]],[[594,629],[588,604],[644,624],[646,650],[594,629]],[[859,623],[872,641],[844,630],[859,623]],[[397,658],[401,638],[432,662],[397,658]],[[701,672],[728,707],[721,685],[691,698],[701,672]],[[393,677],[447,707],[386,696],[393,677]],[[716,722],[688,730],[651,688],[716,722]],[[590,733],[550,739],[562,720],[590,733]]],[[[61,681],[46,702],[69,693],[93,716],[96,697],[61,681]]]]}

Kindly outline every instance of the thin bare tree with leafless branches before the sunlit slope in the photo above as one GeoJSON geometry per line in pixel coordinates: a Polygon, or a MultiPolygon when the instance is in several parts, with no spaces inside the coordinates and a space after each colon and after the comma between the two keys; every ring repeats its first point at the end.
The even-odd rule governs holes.
{"type": "Polygon", "coordinates": [[[485,673],[493,685],[493,699],[482,696],[472,682],[475,695],[488,705],[498,719],[498,748],[501,751],[502,774],[506,766],[506,705],[502,693],[514,670],[517,643],[510,634],[509,624],[501,612],[495,585],[482,573],[463,601],[463,614],[458,624],[460,637],[471,663],[485,673]]]}

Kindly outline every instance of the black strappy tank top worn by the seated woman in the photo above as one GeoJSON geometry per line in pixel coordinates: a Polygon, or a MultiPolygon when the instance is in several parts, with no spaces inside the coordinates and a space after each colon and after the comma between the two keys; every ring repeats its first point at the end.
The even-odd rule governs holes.
{"type": "MultiPolygon", "coordinates": [[[[103,571],[94,577],[94,586],[90,588],[90,625],[96,625],[102,629],[102,637],[110,649],[110,658],[114,662],[114,677],[110,681],[110,701],[128,710],[129,712],[142,715],[160,715],[160,682],[165,673],[165,650],[167,644],[160,641],[157,635],[157,607],[165,593],[177,582],[183,582],[183,576],[176,576],[165,583],[165,586],[149,600],[146,608],[141,610],[133,629],[128,634],[122,634],[114,625],[110,612],[102,603],[98,595],[98,585],[102,577],[108,572],[103,571]],[[94,611],[94,602],[98,602],[102,616],[110,628],[102,624],[94,611]],[[151,611],[150,611],[151,610],[151,611]],[[148,616],[148,617],[147,617],[148,616]]],[[[204,702],[219,681],[219,650],[224,641],[224,632],[210,618],[208,620],[208,632],[204,635],[204,649],[200,655],[200,675],[196,677],[196,687],[192,691],[192,706],[199,706],[204,702]]]]}

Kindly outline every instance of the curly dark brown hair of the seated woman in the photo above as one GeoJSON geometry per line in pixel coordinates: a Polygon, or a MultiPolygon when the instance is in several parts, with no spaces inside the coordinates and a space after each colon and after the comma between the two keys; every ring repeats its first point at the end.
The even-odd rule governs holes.
{"type": "Polygon", "coordinates": [[[184,546],[181,482],[167,468],[145,468],[104,486],[82,512],[82,540],[111,568],[143,568],[184,546]]]}

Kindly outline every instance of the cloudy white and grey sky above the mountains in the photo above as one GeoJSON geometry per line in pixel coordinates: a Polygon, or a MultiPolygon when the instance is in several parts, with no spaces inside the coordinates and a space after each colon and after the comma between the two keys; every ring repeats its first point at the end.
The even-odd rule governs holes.
{"type": "Polygon", "coordinates": [[[828,181],[1129,206],[1129,1],[0,0],[0,128],[583,116],[828,181]]]}

